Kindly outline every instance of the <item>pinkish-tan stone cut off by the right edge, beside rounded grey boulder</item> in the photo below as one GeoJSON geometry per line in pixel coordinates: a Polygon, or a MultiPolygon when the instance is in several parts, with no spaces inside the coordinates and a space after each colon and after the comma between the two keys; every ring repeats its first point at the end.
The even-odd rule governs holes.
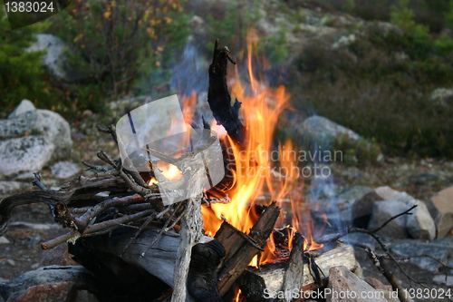
{"type": "Polygon", "coordinates": [[[453,187],[441,190],[432,198],[434,209],[430,210],[436,223],[438,238],[443,238],[453,229],[453,187]]]}

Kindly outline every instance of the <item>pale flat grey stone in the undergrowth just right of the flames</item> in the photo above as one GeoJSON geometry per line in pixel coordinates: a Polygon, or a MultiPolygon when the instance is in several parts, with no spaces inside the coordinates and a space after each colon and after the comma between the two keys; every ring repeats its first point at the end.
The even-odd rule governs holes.
{"type": "Polygon", "coordinates": [[[302,132],[316,140],[333,139],[347,136],[352,141],[359,141],[360,135],[350,129],[332,122],[322,116],[312,116],[302,123],[302,132]]]}

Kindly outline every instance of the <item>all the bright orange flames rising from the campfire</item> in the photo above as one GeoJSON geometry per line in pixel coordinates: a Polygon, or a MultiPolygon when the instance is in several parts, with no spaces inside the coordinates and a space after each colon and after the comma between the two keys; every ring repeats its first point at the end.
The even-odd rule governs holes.
{"type": "MultiPolygon", "coordinates": [[[[241,83],[236,77],[230,82],[232,98],[237,98],[242,102],[241,112],[243,114],[243,124],[246,126],[246,143],[238,145],[229,136],[224,136],[227,152],[234,158],[236,165],[233,171],[233,187],[226,193],[230,197],[228,204],[211,204],[209,207],[202,207],[204,227],[207,236],[213,237],[220,228],[225,217],[236,229],[245,233],[253,227],[258,215],[255,213],[255,202],[259,200],[277,200],[282,202],[284,198],[290,196],[294,228],[288,237],[289,245],[292,244],[294,232],[301,231],[307,235],[309,249],[314,247],[311,235],[312,228],[301,228],[304,219],[310,219],[310,210],[302,207],[304,204],[303,189],[304,183],[299,180],[299,170],[297,169],[297,153],[291,141],[286,141],[284,145],[279,145],[278,150],[273,150],[273,139],[275,127],[279,115],[284,109],[290,108],[290,95],[286,93],[284,86],[271,88],[255,78],[252,62],[254,61],[253,48],[257,42],[254,32],[247,35],[247,67],[249,85],[241,83]],[[276,159],[275,159],[276,155],[276,159]],[[262,194],[268,193],[270,198],[263,199],[262,194]],[[306,212],[305,216],[300,214],[306,212]]],[[[193,100],[196,96],[192,95],[185,98],[184,104],[195,106],[193,100]]],[[[193,110],[188,110],[192,113],[193,110]]],[[[185,116],[186,113],[185,113],[185,116]]],[[[226,167],[228,169],[228,167],[226,167]]],[[[309,220],[311,221],[311,219],[309,220]]],[[[283,217],[279,225],[284,224],[283,217]]],[[[260,264],[275,260],[274,236],[271,234],[267,240],[265,251],[260,258],[260,264]]],[[[258,258],[252,260],[251,265],[257,266],[258,258]]],[[[236,297],[238,301],[239,294],[236,297]]]]}

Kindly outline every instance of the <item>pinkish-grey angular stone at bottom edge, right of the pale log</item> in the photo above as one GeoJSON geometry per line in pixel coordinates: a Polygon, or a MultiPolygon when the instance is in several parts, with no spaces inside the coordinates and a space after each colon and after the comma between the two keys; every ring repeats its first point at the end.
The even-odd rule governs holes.
{"type": "Polygon", "coordinates": [[[371,287],[361,278],[352,274],[346,267],[336,267],[329,270],[329,283],[327,288],[330,288],[332,293],[336,293],[326,295],[327,302],[387,302],[384,297],[381,297],[376,292],[376,289],[371,287]],[[353,292],[355,295],[351,294],[347,297],[347,292],[353,292]],[[344,297],[340,295],[341,293],[344,294],[344,297]],[[363,296],[363,294],[365,296],[363,296]]]}

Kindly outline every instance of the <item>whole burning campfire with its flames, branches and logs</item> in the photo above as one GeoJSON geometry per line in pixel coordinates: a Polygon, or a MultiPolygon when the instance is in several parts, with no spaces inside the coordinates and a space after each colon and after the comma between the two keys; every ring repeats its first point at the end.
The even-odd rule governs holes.
{"type": "MultiPolygon", "coordinates": [[[[41,190],[0,204],[1,230],[15,206],[49,204],[55,221],[72,230],[42,247],[69,242],[82,266],[99,278],[109,276],[109,287],[92,289],[107,298],[262,301],[275,293],[324,287],[333,267],[360,269],[353,248],[336,241],[341,234],[316,242],[323,229],[313,225],[294,142],[274,141],[279,115],[291,108],[290,95],[284,86],[257,80],[256,39],[253,33],[248,38],[246,84],[237,68],[228,79],[228,61],[236,62],[216,42],[207,95],[213,124],[203,120],[200,129],[192,122],[197,95],[184,99],[184,120],[200,133],[189,151],[169,156],[140,146],[134,159],[146,170],[128,166],[134,159],[113,160],[101,151],[98,157],[110,169],[84,162],[96,177],[79,177],[58,191],[47,190],[36,174],[34,184],[41,190]],[[221,158],[213,156],[217,151],[221,158]],[[225,176],[207,188],[213,177],[207,167],[216,162],[225,176]],[[105,191],[108,196],[99,194],[105,191]],[[164,202],[169,196],[184,200],[164,202]]],[[[100,131],[109,133],[120,151],[128,149],[115,126],[100,131]]]]}

